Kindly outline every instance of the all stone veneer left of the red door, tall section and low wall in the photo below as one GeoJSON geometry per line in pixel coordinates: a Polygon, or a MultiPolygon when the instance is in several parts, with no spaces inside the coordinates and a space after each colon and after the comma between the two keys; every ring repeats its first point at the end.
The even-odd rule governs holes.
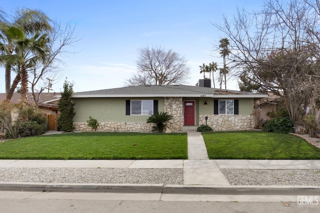
{"type": "MultiPolygon", "coordinates": [[[[181,97],[164,97],[164,112],[173,116],[167,123],[172,132],[181,132],[183,129],[183,101],[181,97]]],[[[161,110],[159,110],[161,111],[161,110]]],[[[92,131],[86,122],[74,122],[75,131],[92,131]]],[[[105,132],[151,132],[152,123],[138,122],[100,122],[97,131],[105,132]]]]}

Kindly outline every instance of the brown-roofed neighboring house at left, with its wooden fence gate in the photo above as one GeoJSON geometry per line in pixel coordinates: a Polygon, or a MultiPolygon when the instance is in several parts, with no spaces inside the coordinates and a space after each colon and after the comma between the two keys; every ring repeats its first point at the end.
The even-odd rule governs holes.
{"type": "MultiPolygon", "coordinates": [[[[36,104],[32,97],[32,93],[28,93],[28,103],[30,105],[31,104],[36,105],[38,110],[40,110],[43,114],[47,116],[48,130],[57,130],[56,116],[59,113],[58,106],[57,106],[59,98],[57,98],[57,96],[59,95],[60,93],[55,93],[55,92],[49,92],[49,93],[42,92],[40,93],[38,104],[36,104]]],[[[13,93],[11,102],[19,103],[20,98],[21,98],[20,93],[13,93]]],[[[5,93],[0,93],[0,101],[3,101],[3,100],[5,100],[5,93]]]]}

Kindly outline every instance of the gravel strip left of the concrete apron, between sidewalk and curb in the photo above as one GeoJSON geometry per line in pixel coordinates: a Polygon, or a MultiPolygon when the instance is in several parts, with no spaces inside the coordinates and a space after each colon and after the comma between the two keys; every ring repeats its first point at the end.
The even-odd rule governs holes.
{"type": "Polygon", "coordinates": [[[183,169],[0,168],[0,182],[182,185],[183,169]]]}

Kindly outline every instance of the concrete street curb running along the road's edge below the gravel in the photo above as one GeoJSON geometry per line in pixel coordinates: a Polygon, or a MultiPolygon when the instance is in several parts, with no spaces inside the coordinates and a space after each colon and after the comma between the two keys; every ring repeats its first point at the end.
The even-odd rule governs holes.
{"type": "Polygon", "coordinates": [[[212,186],[0,182],[0,191],[158,193],[192,195],[320,195],[320,186],[212,186]]]}

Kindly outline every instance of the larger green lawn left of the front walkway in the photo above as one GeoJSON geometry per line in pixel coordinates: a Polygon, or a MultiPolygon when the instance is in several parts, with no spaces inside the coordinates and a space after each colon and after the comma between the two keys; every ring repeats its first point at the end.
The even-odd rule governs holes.
{"type": "Polygon", "coordinates": [[[0,159],[187,159],[186,133],[69,133],[0,143],[0,159]]]}

